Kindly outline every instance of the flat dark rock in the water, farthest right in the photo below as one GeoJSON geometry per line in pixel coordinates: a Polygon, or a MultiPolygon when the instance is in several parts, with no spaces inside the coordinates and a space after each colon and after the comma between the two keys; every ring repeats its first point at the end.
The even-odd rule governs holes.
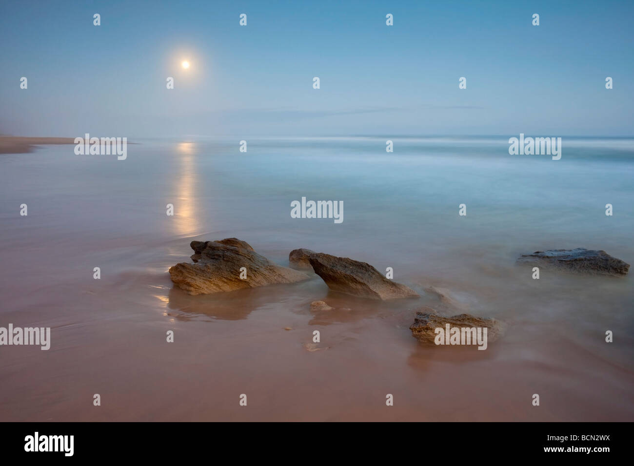
{"type": "Polygon", "coordinates": [[[578,273],[599,275],[627,275],[630,264],[612,257],[603,250],[551,249],[523,254],[517,259],[518,264],[531,264],[538,267],[566,269],[578,273]]]}

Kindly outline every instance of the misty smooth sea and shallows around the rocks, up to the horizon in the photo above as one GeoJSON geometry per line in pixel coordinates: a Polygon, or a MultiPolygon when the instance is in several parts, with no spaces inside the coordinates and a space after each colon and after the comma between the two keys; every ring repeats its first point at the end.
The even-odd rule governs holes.
{"type": "Polygon", "coordinates": [[[392,138],[394,153],[385,139],[2,156],[0,326],[51,327],[52,341],[0,347],[0,420],[634,420],[631,275],[532,280],[514,264],[575,247],[634,261],[633,141],[564,138],[553,161],[508,155],[504,138],[392,138]],[[344,222],[292,219],[302,196],[343,200],[344,222]],[[392,267],[422,297],[367,302],[314,275],[222,295],[172,288],[167,269],[191,240],[231,236],[282,265],[306,247],[392,267]],[[414,310],[448,311],[430,285],[507,323],[503,337],[486,351],[422,347],[414,310]],[[315,300],[351,310],[311,313],[315,300]]]}

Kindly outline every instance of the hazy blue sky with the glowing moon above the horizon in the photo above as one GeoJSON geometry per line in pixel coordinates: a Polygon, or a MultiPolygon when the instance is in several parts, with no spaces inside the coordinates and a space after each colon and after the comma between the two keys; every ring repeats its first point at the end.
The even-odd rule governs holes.
{"type": "Polygon", "coordinates": [[[633,136],[633,20],[629,0],[2,1],[0,134],[633,136]]]}

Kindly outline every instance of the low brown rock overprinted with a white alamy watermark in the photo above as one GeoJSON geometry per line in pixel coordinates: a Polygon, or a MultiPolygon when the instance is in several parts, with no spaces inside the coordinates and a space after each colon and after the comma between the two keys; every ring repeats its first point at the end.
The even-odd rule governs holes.
{"type": "Polygon", "coordinates": [[[423,306],[418,309],[414,318],[414,323],[410,326],[411,334],[421,342],[436,346],[434,339],[436,338],[436,328],[441,327],[443,330],[449,324],[450,328],[487,328],[487,342],[495,340],[503,330],[503,324],[495,319],[484,319],[475,317],[471,314],[458,314],[456,316],[444,317],[434,311],[431,307],[423,306]]]}

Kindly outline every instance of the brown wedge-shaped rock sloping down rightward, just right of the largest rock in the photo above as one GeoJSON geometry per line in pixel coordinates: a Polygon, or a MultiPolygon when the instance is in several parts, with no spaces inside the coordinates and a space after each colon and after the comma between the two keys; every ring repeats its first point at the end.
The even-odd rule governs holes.
{"type": "Polygon", "coordinates": [[[311,254],[309,261],[315,273],[323,278],[328,288],[333,291],[383,300],[418,297],[414,290],[388,280],[365,262],[323,253],[311,254]]]}

